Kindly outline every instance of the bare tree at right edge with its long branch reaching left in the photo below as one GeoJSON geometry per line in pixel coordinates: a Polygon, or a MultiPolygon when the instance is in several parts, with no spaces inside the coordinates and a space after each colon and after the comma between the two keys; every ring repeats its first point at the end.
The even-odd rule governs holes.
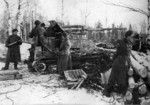
{"type": "Polygon", "coordinates": [[[113,6],[126,8],[126,9],[129,9],[130,11],[137,12],[137,13],[145,15],[147,17],[147,21],[148,21],[147,32],[148,32],[148,35],[150,35],[150,0],[147,0],[147,2],[148,2],[148,7],[147,7],[148,12],[145,11],[145,10],[142,10],[140,8],[135,8],[135,7],[129,6],[127,4],[123,4],[123,3],[113,3],[113,2],[110,2],[110,1],[107,1],[107,2],[105,1],[103,3],[105,3],[107,5],[113,5],[113,6]]]}

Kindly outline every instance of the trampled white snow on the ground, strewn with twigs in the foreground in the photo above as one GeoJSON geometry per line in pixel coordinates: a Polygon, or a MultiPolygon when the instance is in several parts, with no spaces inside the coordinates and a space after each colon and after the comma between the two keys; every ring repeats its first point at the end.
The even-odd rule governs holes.
{"type": "MultiPolygon", "coordinates": [[[[29,44],[22,44],[22,59],[28,58],[28,48],[29,44]]],[[[0,57],[5,58],[6,51],[5,45],[0,44],[0,57]]],[[[148,66],[149,56],[133,53],[141,64],[148,66]]],[[[0,62],[0,68],[3,66],[4,63],[0,62]]],[[[0,81],[0,105],[121,105],[117,101],[109,103],[112,98],[104,97],[101,92],[89,92],[84,88],[68,89],[66,81],[58,79],[57,74],[29,73],[22,63],[19,68],[23,79],[0,81]]]]}

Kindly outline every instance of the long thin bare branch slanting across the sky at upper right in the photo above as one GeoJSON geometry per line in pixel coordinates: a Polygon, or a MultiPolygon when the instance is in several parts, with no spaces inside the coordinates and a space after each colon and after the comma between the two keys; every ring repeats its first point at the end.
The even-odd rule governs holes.
{"type": "Polygon", "coordinates": [[[112,3],[112,2],[103,2],[103,3],[106,5],[113,5],[113,6],[126,8],[126,9],[129,9],[131,11],[138,12],[138,13],[144,14],[146,16],[149,16],[149,14],[146,11],[139,9],[139,8],[134,8],[134,7],[128,6],[128,5],[123,4],[123,3],[120,3],[120,4],[116,4],[116,3],[112,3]]]}

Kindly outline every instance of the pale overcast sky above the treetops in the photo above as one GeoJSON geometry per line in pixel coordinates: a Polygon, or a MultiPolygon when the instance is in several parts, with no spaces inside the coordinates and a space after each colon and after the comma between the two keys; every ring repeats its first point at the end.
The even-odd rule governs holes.
{"type": "MultiPolygon", "coordinates": [[[[0,0],[1,5],[3,0],[0,0]]],[[[16,0],[9,0],[10,2],[16,0]]],[[[24,0],[26,1],[26,0],[24,0]]],[[[36,1],[36,0],[35,0],[36,1]]],[[[51,19],[61,19],[62,0],[39,0],[40,12],[51,19]]],[[[64,18],[65,22],[69,21],[71,24],[83,24],[83,17],[85,15],[86,6],[89,16],[87,24],[94,26],[95,22],[101,21],[103,27],[111,26],[112,23],[119,25],[123,23],[126,27],[129,24],[134,24],[139,28],[139,23],[143,20],[147,21],[146,16],[131,12],[127,9],[110,6],[104,4],[102,1],[107,0],[64,0],[64,18]],[[86,4],[87,1],[87,4],[86,4]],[[106,21],[107,20],[107,21],[106,21]]],[[[124,3],[135,8],[147,10],[147,0],[110,0],[114,3],[124,3]]],[[[14,2],[15,3],[15,2],[14,2]]],[[[13,4],[13,3],[12,3],[13,4]]],[[[0,5],[0,7],[2,7],[0,5]]],[[[2,9],[1,9],[2,11],[2,9]]],[[[0,13],[1,13],[0,11],[0,13]]]]}

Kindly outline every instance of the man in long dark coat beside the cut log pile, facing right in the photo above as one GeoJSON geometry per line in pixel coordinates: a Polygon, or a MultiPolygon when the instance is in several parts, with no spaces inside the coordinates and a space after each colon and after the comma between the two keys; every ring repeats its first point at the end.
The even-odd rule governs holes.
{"type": "Polygon", "coordinates": [[[130,55],[133,43],[133,31],[127,31],[125,38],[116,43],[117,51],[112,65],[112,71],[104,94],[111,92],[125,94],[128,88],[128,70],[131,66],[130,55]]]}

